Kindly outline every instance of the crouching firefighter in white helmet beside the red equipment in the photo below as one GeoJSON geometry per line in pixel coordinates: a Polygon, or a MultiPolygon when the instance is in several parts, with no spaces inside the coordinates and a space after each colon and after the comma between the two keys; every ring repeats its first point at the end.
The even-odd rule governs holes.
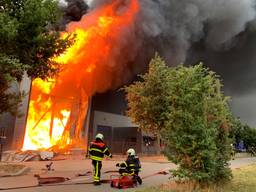
{"type": "Polygon", "coordinates": [[[135,150],[130,148],[127,150],[127,159],[123,163],[117,163],[117,167],[120,167],[119,173],[124,175],[131,175],[136,179],[136,181],[141,185],[142,180],[139,176],[139,172],[141,170],[141,164],[139,157],[136,156],[135,150]]]}

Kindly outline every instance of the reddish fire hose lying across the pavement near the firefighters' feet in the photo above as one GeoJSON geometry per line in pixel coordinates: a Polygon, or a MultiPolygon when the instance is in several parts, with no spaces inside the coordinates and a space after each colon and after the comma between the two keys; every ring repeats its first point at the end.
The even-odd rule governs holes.
{"type": "MultiPolygon", "coordinates": [[[[104,173],[118,173],[118,171],[106,171],[104,173]]],[[[65,177],[40,177],[40,175],[35,175],[38,179],[37,185],[23,186],[23,187],[8,187],[8,188],[0,188],[0,190],[12,190],[12,189],[26,189],[26,188],[34,188],[34,187],[46,187],[46,186],[61,186],[61,185],[88,185],[93,184],[93,182],[81,182],[81,183],[67,183],[67,181],[72,181],[72,179],[80,177],[80,176],[89,176],[91,174],[90,171],[85,174],[78,174],[73,178],[65,178],[65,177]],[[65,183],[66,182],[66,183],[65,183]]],[[[167,175],[168,172],[165,170],[158,171],[156,173],[147,175],[142,177],[142,179],[146,179],[149,177],[153,177],[156,175],[167,175]]],[[[111,179],[101,180],[101,183],[110,183],[111,179]]]]}

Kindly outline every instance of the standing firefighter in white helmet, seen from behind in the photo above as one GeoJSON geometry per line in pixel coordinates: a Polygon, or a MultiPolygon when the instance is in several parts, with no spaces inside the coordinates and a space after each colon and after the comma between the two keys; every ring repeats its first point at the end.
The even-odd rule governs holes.
{"type": "Polygon", "coordinates": [[[103,142],[104,136],[98,133],[95,140],[90,143],[89,153],[94,167],[93,181],[95,185],[100,185],[100,170],[102,167],[102,159],[104,155],[112,158],[108,147],[103,142]]]}

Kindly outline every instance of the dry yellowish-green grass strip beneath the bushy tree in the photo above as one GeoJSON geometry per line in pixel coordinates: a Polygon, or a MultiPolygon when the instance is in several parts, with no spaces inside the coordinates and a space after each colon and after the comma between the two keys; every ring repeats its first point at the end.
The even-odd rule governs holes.
{"type": "Polygon", "coordinates": [[[256,164],[233,170],[233,180],[225,185],[204,190],[192,190],[188,184],[169,182],[157,187],[146,188],[136,192],[256,192],[256,164]]]}

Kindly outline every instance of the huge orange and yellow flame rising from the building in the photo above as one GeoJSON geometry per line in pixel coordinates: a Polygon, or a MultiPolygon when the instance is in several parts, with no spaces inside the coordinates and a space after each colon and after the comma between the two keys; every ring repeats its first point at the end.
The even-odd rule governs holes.
{"type": "Polygon", "coordinates": [[[82,143],[88,98],[120,83],[131,60],[122,51],[130,46],[138,9],[138,0],[113,0],[67,27],[76,41],[54,58],[63,69],[55,79],[32,83],[23,150],[82,143]]]}

